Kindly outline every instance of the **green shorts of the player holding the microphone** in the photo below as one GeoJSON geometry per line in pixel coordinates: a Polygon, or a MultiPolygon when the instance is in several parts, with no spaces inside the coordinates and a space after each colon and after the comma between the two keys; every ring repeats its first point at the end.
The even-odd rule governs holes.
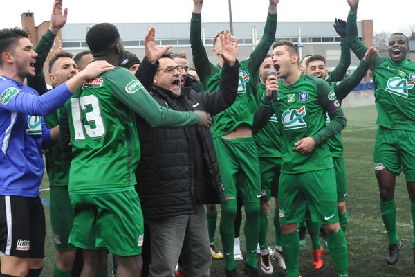
{"type": "Polygon", "coordinates": [[[299,174],[282,173],[278,202],[281,224],[304,222],[307,209],[313,222],[338,222],[334,168],[299,174]]]}

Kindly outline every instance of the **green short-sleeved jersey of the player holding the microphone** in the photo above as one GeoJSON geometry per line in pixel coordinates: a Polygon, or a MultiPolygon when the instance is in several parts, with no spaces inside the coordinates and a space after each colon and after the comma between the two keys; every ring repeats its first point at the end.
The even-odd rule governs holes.
{"type": "Polygon", "coordinates": [[[333,105],[335,109],[340,109],[335,93],[320,78],[302,74],[289,87],[279,80],[278,103],[274,109],[283,135],[281,172],[297,174],[333,168],[333,159],[326,142],[316,145],[310,154],[301,154],[294,145],[326,126],[326,110],[333,105]]]}

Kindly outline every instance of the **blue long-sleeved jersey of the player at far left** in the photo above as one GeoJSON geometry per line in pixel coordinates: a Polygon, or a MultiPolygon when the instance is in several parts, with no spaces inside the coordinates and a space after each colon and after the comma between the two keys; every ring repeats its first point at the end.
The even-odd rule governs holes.
{"type": "Polygon", "coordinates": [[[71,96],[66,84],[39,96],[35,89],[0,76],[0,195],[39,195],[42,148],[52,144],[42,116],[71,96]]]}

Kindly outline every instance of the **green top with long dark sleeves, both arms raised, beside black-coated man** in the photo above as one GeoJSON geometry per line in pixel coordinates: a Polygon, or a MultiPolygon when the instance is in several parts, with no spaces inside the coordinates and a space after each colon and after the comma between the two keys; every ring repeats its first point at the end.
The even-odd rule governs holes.
{"type": "MultiPolygon", "coordinates": [[[[252,127],[252,119],[257,107],[252,85],[252,74],[264,61],[270,46],[274,43],[277,30],[277,14],[268,13],[264,27],[264,35],[250,57],[240,62],[238,95],[234,104],[225,111],[213,116],[211,127],[212,136],[228,134],[241,124],[252,127]]],[[[202,91],[216,91],[221,80],[221,67],[209,62],[206,49],[201,40],[201,14],[192,14],[190,21],[190,44],[192,46],[193,62],[201,80],[202,91]]]]}

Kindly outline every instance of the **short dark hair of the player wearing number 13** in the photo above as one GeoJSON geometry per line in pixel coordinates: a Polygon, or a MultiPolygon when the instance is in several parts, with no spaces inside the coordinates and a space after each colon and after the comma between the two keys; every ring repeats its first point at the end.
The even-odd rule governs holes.
{"type": "Polygon", "coordinates": [[[120,39],[118,29],[111,23],[100,23],[92,26],[86,33],[86,44],[93,56],[107,53],[120,39]]]}

